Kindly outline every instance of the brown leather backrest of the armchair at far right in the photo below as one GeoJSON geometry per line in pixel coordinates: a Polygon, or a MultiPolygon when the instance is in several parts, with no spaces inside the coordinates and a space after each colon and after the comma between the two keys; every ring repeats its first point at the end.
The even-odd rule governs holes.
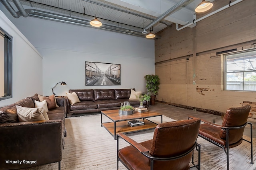
{"type": "MultiPolygon", "coordinates": [[[[247,122],[248,115],[250,113],[251,106],[232,107],[226,111],[222,126],[223,127],[239,127],[247,122]]],[[[242,139],[244,128],[230,129],[229,133],[229,145],[235,144],[242,139]]],[[[220,138],[226,140],[226,130],[220,130],[220,138]]]]}

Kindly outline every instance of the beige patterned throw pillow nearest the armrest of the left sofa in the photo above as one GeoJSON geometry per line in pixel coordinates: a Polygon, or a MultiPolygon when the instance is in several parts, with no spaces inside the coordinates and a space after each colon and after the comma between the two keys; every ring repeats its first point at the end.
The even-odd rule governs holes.
{"type": "Polygon", "coordinates": [[[16,106],[17,108],[17,115],[20,122],[26,122],[26,121],[40,121],[40,120],[46,120],[48,118],[48,115],[43,107],[37,107],[37,108],[30,108],[30,107],[22,107],[22,106],[16,106]]]}

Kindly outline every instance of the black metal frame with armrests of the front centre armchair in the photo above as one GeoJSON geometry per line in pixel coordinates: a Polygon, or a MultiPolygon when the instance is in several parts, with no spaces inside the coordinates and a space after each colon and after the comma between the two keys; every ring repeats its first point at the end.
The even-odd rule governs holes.
{"type": "MultiPolygon", "coordinates": [[[[118,151],[119,151],[119,137],[121,137],[122,139],[124,139],[123,135],[122,134],[117,134],[117,164],[116,164],[116,169],[118,170],[118,162],[120,161],[127,169],[128,166],[126,166],[126,164],[124,164],[124,162],[119,158],[118,156],[118,151]]],[[[192,155],[192,164],[194,166],[191,166],[190,168],[192,167],[196,167],[198,170],[200,170],[200,158],[201,158],[201,154],[200,154],[200,151],[201,151],[201,145],[198,144],[198,143],[195,143],[194,146],[188,150],[186,153],[184,154],[181,154],[179,156],[174,156],[174,157],[168,157],[168,158],[159,158],[159,157],[154,157],[152,156],[150,153],[149,153],[149,150],[139,150],[135,145],[137,146],[140,146],[140,147],[143,147],[142,145],[140,145],[139,143],[137,143],[136,141],[130,139],[129,137],[126,136],[126,139],[124,139],[124,141],[126,141],[127,143],[129,143],[130,145],[132,145],[133,147],[135,147],[141,154],[143,154],[144,156],[146,156],[147,158],[150,159],[150,170],[153,170],[153,167],[154,167],[154,160],[160,160],[160,161],[167,161],[167,160],[176,160],[176,159],[179,159],[179,158],[182,158],[186,155],[188,155],[190,152],[192,152],[195,148],[196,150],[198,151],[198,164],[195,164],[194,163],[194,151],[193,151],[193,155],[192,155]],[[129,141],[128,141],[128,140],[129,141]],[[132,141],[132,142],[130,142],[132,141]]],[[[143,147],[144,148],[144,147],[143,147]]]]}

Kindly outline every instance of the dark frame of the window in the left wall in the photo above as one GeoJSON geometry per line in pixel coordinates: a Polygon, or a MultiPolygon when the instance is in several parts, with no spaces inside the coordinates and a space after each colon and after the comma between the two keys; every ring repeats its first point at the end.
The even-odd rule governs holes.
{"type": "Polygon", "coordinates": [[[1,100],[12,98],[12,36],[0,27],[0,36],[4,38],[4,96],[1,100]]]}

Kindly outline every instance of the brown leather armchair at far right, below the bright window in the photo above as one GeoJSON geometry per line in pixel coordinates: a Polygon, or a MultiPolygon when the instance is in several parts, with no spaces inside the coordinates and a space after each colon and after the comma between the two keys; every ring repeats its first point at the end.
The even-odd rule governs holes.
{"type": "MultiPolygon", "coordinates": [[[[253,164],[252,158],[252,123],[247,122],[248,115],[250,113],[250,106],[232,107],[226,111],[222,125],[216,125],[214,123],[204,121],[204,124],[200,125],[198,136],[202,137],[206,141],[213,143],[214,145],[224,149],[227,155],[227,169],[229,169],[229,148],[236,147],[247,141],[243,139],[244,128],[247,124],[250,124],[250,136],[251,140],[247,141],[251,144],[251,164],[253,164]]],[[[195,117],[190,116],[194,119],[195,117]]]]}

